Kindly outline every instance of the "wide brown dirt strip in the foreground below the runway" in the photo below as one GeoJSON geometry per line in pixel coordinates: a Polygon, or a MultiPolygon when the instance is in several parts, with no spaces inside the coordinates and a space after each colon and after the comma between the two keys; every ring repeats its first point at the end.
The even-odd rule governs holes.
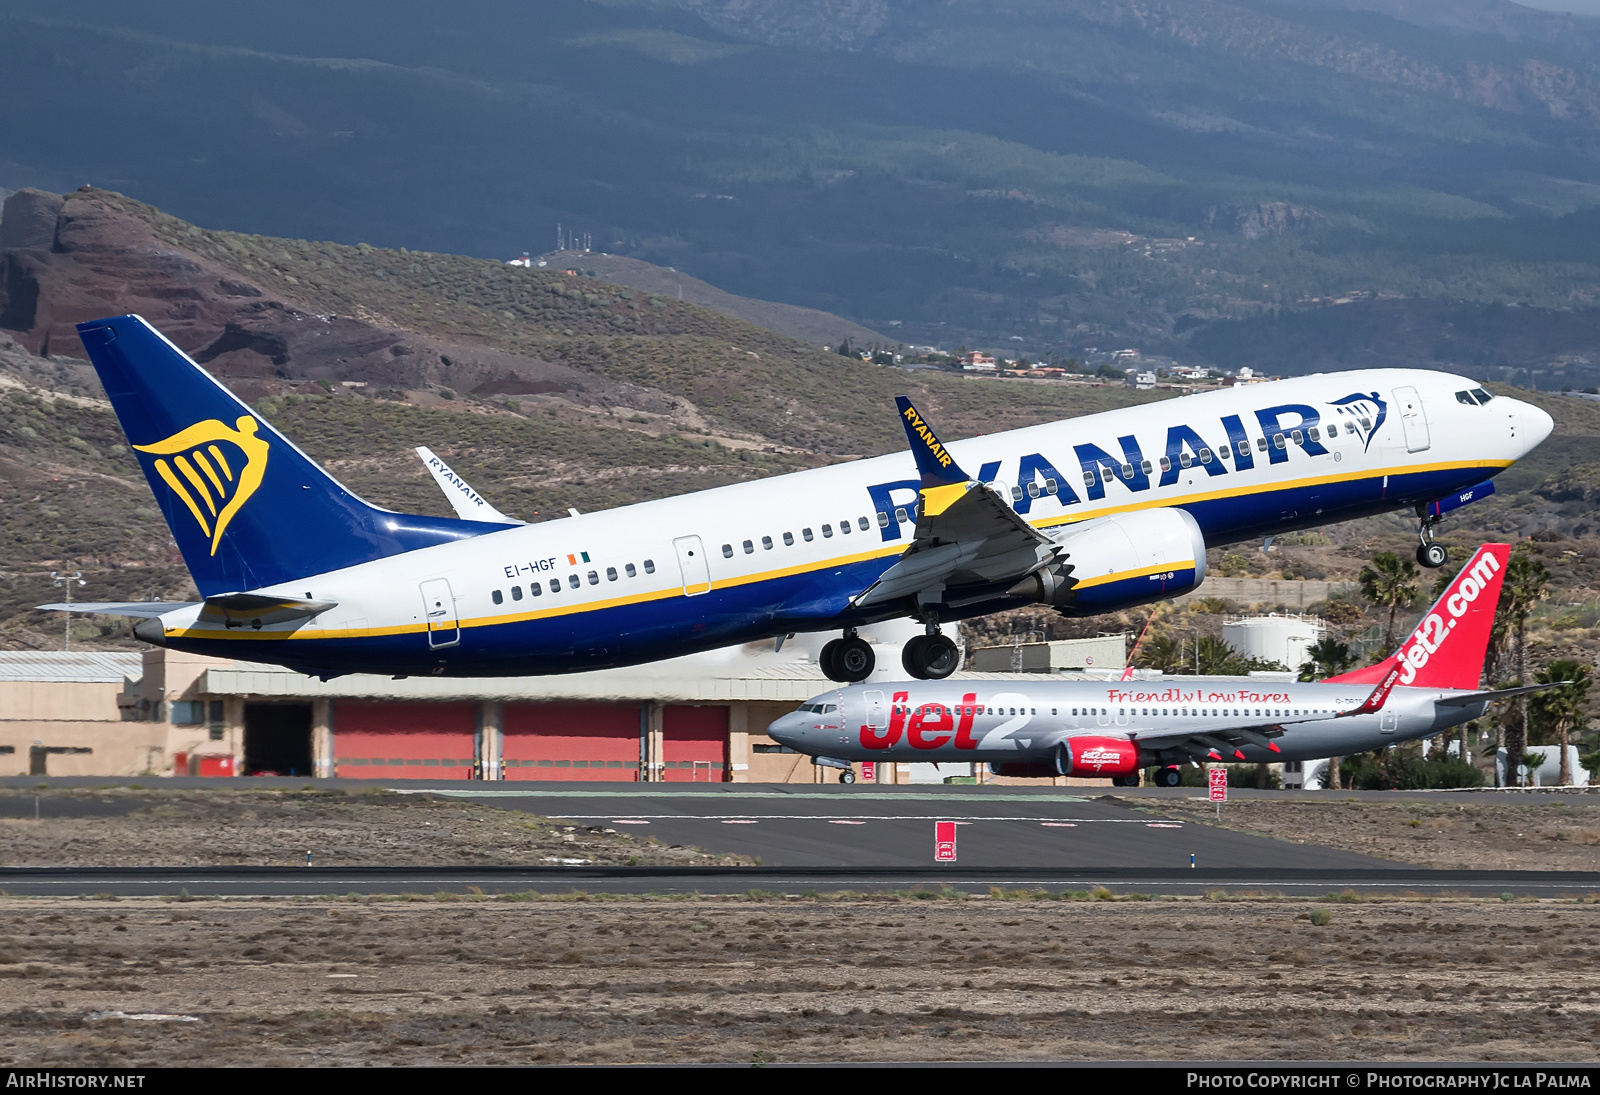
{"type": "Polygon", "coordinates": [[[1594,1060],[1597,927],[1594,895],[11,898],[0,1065],[1594,1060]]]}

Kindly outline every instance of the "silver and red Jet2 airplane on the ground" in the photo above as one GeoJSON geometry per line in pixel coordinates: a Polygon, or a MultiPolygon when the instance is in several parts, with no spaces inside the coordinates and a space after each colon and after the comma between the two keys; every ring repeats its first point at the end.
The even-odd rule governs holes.
{"type": "Polygon", "coordinates": [[[1314,760],[1427,738],[1490,701],[1554,685],[1478,692],[1510,549],[1483,544],[1400,648],[1315,684],[1238,680],[970,680],[851,685],[766,733],[842,768],[851,760],[971,760],[998,775],[1112,776],[1176,788],[1181,764],[1314,760]]]}

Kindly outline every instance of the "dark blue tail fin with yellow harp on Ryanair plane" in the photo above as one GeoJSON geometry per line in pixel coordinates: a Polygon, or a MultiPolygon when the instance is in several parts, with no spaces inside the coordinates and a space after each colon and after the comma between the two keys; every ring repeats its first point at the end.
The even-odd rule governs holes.
{"type": "Polygon", "coordinates": [[[506,528],[362,501],[138,315],[78,338],[203,597],[506,528]]]}

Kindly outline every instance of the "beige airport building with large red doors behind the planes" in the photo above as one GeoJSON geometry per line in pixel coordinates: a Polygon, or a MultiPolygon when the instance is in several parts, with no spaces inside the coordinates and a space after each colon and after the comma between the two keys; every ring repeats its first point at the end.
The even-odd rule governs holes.
{"type": "MultiPolygon", "coordinates": [[[[554,677],[320,680],[163,648],[0,652],[0,773],[830,781],[835,770],[765,733],[835,687],[816,666],[821,639],[554,677]]],[[[1122,637],[1090,644],[1090,660],[1120,664],[1122,637]]],[[[878,676],[899,679],[898,636],[877,653],[878,676]]],[[[878,783],[981,775],[970,764],[856,765],[858,780],[878,783]]]]}

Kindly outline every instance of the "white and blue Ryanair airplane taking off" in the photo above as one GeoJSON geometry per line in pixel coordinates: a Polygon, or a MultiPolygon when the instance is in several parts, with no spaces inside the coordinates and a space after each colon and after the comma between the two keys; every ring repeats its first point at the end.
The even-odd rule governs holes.
{"type": "Polygon", "coordinates": [[[70,610],[322,677],[570,672],[837,629],[824,672],[864,680],[874,655],[856,628],[901,616],[926,624],[906,671],[947,677],[958,656],[941,624],[1173,597],[1205,578],[1206,544],[1413,507],[1419,557],[1440,565],[1437,520],[1491,493],[1552,426],[1474,381],[1408,370],[950,445],[901,399],[910,453],[523,525],[442,464],[458,512],[478,519],[362,501],[138,315],[78,336],[203,600],[70,610]]]}

